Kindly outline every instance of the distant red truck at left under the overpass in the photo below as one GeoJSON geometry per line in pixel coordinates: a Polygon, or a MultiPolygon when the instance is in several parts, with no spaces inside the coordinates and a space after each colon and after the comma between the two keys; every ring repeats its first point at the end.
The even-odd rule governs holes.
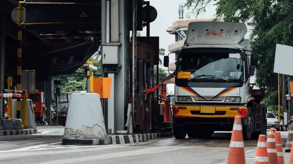
{"type": "Polygon", "coordinates": [[[44,92],[36,90],[35,93],[29,93],[28,98],[33,102],[36,123],[46,121],[46,105],[44,92]]]}

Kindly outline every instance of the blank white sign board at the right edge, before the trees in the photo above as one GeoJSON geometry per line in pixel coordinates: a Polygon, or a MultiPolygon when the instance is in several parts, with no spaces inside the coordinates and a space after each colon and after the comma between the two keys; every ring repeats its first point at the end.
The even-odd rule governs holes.
{"type": "Polygon", "coordinates": [[[277,44],[273,72],[293,76],[293,47],[277,44]]]}

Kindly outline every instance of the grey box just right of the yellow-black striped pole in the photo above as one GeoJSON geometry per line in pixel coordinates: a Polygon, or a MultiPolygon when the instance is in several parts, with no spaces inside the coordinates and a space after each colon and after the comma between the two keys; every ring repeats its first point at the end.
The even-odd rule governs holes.
{"type": "Polygon", "coordinates": [[[36,72],[35,72],[35,70],[22,70],[21,71],[21,90],[27,90],[27,93],[35,93],[36,92],[36,72]]]}

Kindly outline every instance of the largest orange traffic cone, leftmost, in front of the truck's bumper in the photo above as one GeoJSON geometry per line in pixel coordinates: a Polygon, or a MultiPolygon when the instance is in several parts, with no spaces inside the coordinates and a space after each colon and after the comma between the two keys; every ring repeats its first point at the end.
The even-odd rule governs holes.
{"type": "Polygon", "coordinates": [[[240,116],[234,119],[227,164],[246,164],[240,116]]]}

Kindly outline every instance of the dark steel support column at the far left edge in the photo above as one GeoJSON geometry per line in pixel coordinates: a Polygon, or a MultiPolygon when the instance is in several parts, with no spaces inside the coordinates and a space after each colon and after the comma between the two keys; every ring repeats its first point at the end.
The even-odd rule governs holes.
{"type": "MultiPolygon", "coordinates": [[[[0,17],[0,93],[4,90],[5,19],[0,17]]],[[[4,117],[3,99],[0,99],[0,119],[4,117]]]]}

